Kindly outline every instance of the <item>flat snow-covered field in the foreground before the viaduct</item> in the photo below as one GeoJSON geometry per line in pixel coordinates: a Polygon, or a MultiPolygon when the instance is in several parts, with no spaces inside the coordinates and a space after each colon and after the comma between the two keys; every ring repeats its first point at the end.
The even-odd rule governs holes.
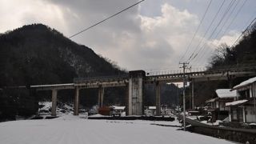
{"type": "MultiPolygon", "coordinates": [[[[79,118],[80,117],[80,118],[79,118]]],[[[0,123],[1,144],[228,144],[212,138],[177,130],[178,122],[88,120],[65,115],[55,119],[0,123]]]]}

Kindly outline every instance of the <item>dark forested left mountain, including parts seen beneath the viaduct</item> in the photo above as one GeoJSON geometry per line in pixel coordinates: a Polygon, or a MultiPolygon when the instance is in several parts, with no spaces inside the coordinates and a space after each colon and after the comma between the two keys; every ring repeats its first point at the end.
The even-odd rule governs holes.
{"type": "MultiPolygon", "coordinates": [[[[0,121],[15,115],[29,116],[38,110],[38,101],[50,99],[50,91],[30,94],[17,86],[69,83],[73,78],[125,74],[107,58],[86,46],[66,38],[57,30],[42,24],[22,26],[0,34],[0,121]],[[7,87],[7,88],[6,88],[7,87]]],[[[58,100],[72,102],[72,90],[60,90],[58,100]]],[[[106,97],[120,97],[114,90],[106,97]]],[[[82,90],[81,103],[97,103],[97,90],[82,90]]],[[[124,98],[111,98],[122,103],[124,98]]]]}

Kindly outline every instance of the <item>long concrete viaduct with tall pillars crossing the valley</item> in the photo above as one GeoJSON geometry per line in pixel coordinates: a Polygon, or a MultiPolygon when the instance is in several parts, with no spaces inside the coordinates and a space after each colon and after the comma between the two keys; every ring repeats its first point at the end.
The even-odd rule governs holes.
{"type": "MultiPolygon", "coordinates": [[[[222,70],[205,70],[198,72],[186,72],[187,81],[192,84],[192,107],[194,98],[194,82],[231,80],[238,77],[256,75],[256,66],[238,67],[222,70]]],[[[156,112],[160,111],[160,83],[166,82],[182,82],[183,74],[157,74],[149,75],[143,70],[130,71],[127,75],[98,77],[98,78],[74,78],[74,83],[54,84],[54,85],[38,85],[30,86],[35,90],[52,90],[52,109],[51,114],[56,116],[56,104],[58,90],[74,89],[74,115],[78,115],[79,90],[98,88],[98,106],[102,106],[104,97],[104,88],[126,86],[128,90],[127,112],[128,115],[142,115],[143,113],[143,90],[147,83],[154,83],[156,86],[156,112]]]]}

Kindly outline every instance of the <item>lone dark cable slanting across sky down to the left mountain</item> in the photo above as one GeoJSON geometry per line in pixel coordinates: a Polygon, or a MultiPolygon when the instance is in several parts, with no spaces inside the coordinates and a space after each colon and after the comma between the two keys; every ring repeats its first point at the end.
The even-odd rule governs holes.
{"type": "Polygon", "coordinates": [[[99,24],[101,24],[102,22],[105,22],[106,20],[108,20],[108,19],[110,19],[110,18],[113,18],[114,16],[116,16],[116,15],[118,15],[118,14],[121,14],[122,12],[124,12],[124,11],[126,11],[126,10],[129,10],[130,8],[132,8],[132,7],[136,6],[136,5],[138,5],[139,3],[143,2],[143,1],[145,1],[145,0],[141,0],[141,1],[139,1],[139,2],[136,2],[136,3],[134,3],[133,5],[127,7],[126,9],[123,9],[123,10],[119,11],[118,13],[113,14],[113,15],[111,15],[110,17],[105,18],[105,19],[103,19],[102,21],[95,23],[94,25],[89,26],[89,27],[87,27],[86,29],[79,31],[79,32],[76,33],[76,34],[71,35],[69,38],[73,38],[74,36],[76,36],[76,35],[78,35],[78,34],[81,34],[82,32],[84,32],[84,31],[86,31],[86,30],[89,30],[89,29],[93,28],[94,26],[99,25],[99,24]]]}

